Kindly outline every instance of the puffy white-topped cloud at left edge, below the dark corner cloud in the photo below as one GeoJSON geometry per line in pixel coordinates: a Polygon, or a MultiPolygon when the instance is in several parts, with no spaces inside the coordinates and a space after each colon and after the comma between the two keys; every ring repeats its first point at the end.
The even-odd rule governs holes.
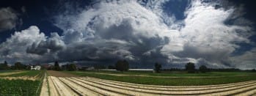
{"type": "Polygon", "coordinates": [[[45,40],[45,34],[40,33],[37,26],[30,26],[21,32],[15,32],[6,42],[0,45],[0,58],[10,62],[32,62],[37,56],[26,53],[26,48],[33,43],[38,44],[45,40]]]}

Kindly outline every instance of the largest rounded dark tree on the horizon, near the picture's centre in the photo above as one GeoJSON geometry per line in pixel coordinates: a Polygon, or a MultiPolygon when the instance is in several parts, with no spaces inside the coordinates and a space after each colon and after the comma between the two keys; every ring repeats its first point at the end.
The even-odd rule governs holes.
{"type": "Polygon", "coordinates": [[[126,60],[118,60],[116,65],[116,70],[127,71],[129,70],[129,63],[126,60]]]}

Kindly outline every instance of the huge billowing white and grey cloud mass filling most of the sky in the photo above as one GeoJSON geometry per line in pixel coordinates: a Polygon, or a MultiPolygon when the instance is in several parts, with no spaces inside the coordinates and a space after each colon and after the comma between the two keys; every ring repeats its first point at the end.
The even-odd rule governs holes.
{"type": "Polygon", "coordinates": [[[169,67],[183,67],[187,62],[238,67],[231,58],[244,56],[231,54],[241,47],[238,43],[251,43],[248,38],[252,36],[252,23],[242,17],[241,7],[190,1],[185,18],[176,20],[174,15],[165,13],[167,2],[96,1],[79,12],[66,9],[55,17],[55,25],[63,30],[61,35],[52,33],[45,37],[32,26],[26,30],[34,29],[33,34],[26,34],[26,30],[16,32],[1,44],[0,52],[4,59],[17,59],[18,53],[33,62],[104,64],[128,59],[143,67],[152,67],[155,62],[169,67]],[[235,13],[239,15],[234,17],[235,13]],[[38,37],[22,40],[26,46],[18,51],[7,47],[19,43],[12,42],[19,35],[38,37]]]}

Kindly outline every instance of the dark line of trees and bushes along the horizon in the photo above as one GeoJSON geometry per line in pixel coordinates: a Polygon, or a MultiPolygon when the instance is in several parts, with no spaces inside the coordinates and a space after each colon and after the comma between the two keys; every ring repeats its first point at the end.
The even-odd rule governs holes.
{"type": "MultiPolygon", "coordinates": [[[[10,65],[10,64],[9,64],[10,65]]],[[[31,64],[26,65],[21,62],[16,62],[12,66],[8,66],[8,63],[4,61],[0,63],[0,70],[30,70],[31,64]]],[[[135,68],[135,67],[134,67],[135,68]]],[[[127,71],[129,69],[129,62],[126,60],[118,60],[114,65],[105,66],[102,64],[95,64],[93,67],[78,67],[74,63],[63,64],[59,66],[59,62],[54,62],[54,65],[48,67],[42,67],[42,70],[100,70],[100,69],[113,69],[120,71],[127,71]]],[[[256,72],[255,69],[252,70],[240,70],[236,68],[208,68],[205,65],[201,65],[199,69],[195,69],[193,62],[188,62],[185,65],[185,69],[180,68],[169,68],[162,69],[161,64],[156,62],[154,64],[154,72],[161,73],[161,71],[188,71],[188,73],[207,73],[207,72],[256,72]]]]}

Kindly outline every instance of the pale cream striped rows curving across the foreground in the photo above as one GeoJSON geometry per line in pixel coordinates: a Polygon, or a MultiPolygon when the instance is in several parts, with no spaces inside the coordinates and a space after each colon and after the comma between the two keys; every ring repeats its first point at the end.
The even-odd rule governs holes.
{"type": "Polygon", "coordinates": [[[252,95],[256,81],[213,86],[152,86],[98,78],[49,77],[58,95],[252,95]]]}

